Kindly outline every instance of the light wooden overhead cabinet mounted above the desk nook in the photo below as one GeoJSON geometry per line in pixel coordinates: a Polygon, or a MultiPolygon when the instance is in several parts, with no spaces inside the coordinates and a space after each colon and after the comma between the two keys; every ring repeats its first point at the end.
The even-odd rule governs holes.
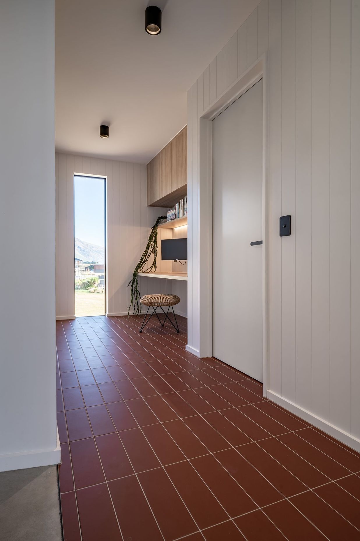
{"type": "Polygon", "coordinates": [[[183,128],[146,166],[149,207],[172,207],[188,192],[188,137],[183,128]]]}

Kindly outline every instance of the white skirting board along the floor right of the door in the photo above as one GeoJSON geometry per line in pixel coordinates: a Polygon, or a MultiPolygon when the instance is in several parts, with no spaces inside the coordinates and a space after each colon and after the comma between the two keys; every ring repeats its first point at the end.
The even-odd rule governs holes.
{"type": "Polygon", "coordinates": [[[288,410],[291,413],[294,413],[295,415],[300,417],[301,419],[304,419],[304,421],[308,421],[308,423],[311,423],[317,428],[320,428],[320,430],[326,432],[326,434],[329,434],[333,438],[342,441],[342,443],[348,445],[355,451],[360,452],[360,439],[355,438],[355,436],[351,436],[351,434],[349,434],[348,432],[344,432],[343,430],[341,430],[341,428],[337,428],[331,423],[328,423],[328,421],[324,421],[324,419],[317,417],[317,415],[314,415],[314,413],[304,410],[302,407],[297,406],[290,400],[286,400],[286,398],[281,397],[273,391],[266,391],[266,397],[269,398],[269,400],[272,400],[273,402],[278,404],[279,406],[282,406],[285,410],[288,410]]]}

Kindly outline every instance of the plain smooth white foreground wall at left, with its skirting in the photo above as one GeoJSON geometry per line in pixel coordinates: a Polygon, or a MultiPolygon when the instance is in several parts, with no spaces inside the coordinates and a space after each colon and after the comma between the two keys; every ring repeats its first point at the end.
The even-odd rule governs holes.
{"type": "Polygon", "coordinates": [[[0,3],[0,471],[58,463],[54,2],[0,3]]]}

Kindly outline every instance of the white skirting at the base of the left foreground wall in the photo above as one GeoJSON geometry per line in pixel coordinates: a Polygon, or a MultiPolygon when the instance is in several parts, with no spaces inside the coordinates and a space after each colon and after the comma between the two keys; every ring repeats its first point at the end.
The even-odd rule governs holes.
{"type": "Polygon", "coordinates": [[[25,451],[22,453],[9,453],[0,455],[0,472],[10,470],[24,470],[38,466],[52,466],[61,463],[61,447],[59,433],[55,449],[40,449],[37,451],[25,451]]]}

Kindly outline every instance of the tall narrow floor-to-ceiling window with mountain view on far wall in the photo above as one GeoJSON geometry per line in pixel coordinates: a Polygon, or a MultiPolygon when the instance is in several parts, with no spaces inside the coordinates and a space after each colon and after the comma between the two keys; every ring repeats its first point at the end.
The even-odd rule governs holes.
{"type": "Polygon", "coordinates": [[[106,313],[106,179],[74,175],[75,316],[106,313]]]}

